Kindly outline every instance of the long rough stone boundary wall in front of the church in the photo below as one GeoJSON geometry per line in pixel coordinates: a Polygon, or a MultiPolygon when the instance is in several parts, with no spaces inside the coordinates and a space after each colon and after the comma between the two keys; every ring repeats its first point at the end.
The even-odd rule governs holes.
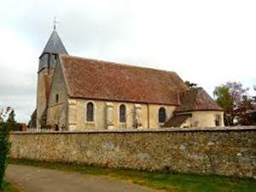
{"type": "Polygon", "coordinates": [[[256,127],[15,132],[12,158],[256,177],[256,127]]]}

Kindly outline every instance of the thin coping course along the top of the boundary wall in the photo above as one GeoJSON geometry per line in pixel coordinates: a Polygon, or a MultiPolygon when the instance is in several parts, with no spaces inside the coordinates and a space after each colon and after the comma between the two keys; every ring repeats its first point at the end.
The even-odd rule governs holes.
{"type": "Polygon", "coordinates": [[[256,131],[256,125],[224,126],[201,128],[162,128],[162,129],[131,129],[131,130],[87,130],[87,131],[11,131],[11,135],[41,135],[41,134],[90,134],[90,133],[159,133],[159,132],[198,132],[198,131],[256,131]]]}

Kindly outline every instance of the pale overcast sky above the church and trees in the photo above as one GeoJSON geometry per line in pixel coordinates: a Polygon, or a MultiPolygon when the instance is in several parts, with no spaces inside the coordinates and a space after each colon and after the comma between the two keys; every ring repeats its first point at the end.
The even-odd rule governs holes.
{"type": "Polygon", "coordinates": [[[27,122],[53,29],[70,55],[175,71],[204,87],[256,84],[256,1],[1,0],[0,108],[27,122]]]}

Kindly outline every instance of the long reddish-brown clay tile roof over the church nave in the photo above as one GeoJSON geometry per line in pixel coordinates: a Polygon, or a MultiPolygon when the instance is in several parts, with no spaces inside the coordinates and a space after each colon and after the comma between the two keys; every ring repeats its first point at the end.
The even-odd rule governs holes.
{"type": "Polygon", "coordinates": [[[177,105],[187,90],[177,73],[61,55],[71,97],[177,105]]]}

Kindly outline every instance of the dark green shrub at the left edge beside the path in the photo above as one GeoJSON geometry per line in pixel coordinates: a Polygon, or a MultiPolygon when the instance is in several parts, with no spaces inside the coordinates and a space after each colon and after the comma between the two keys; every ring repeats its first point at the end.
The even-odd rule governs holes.
{"type": "Polygon", "coordinates": [[[3,176],[7,166],[9,148],[9,128],[6,124],[0,123],[0,189],[3,188],[3,176]]]}

